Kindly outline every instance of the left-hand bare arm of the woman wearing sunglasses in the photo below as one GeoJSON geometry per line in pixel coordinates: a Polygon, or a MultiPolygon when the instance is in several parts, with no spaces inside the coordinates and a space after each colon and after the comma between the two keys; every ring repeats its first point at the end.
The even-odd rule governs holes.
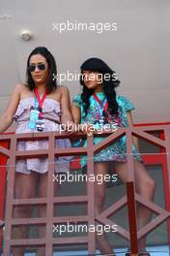
{"type": "Polygon", "coordinates": [[[16,112],[19,99],[20,99],[20,88],[21,84],[16,84],[14,87],[14,92],[10,98],[7,109],[0,116],[0,132],[6,131],[10,125],[13,123],[14,113],[16,112]]]}

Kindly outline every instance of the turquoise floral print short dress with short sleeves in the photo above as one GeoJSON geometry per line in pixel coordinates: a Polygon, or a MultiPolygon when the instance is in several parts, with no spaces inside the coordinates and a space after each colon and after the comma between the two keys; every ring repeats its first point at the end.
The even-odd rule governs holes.
{"type": "MultiPolygon", "coordinates": [[[[104,103],[106,101],[106,97],[103,92],[96,93],[99,101],[104,103]]],[[[81,100],[81,94],[77,94],[73,97],[73,104],[76,105],[81,111],[81,124],[86,122],[93,124],[97,129],[99,125],[99,120],[102,118],[101,113],[103,112],[103,108],[99,105],[99,102],[92,95],[89,99],[90,107],[87,112],[87,115],[84,112],[83,102],[81,100]]],[[[113,116],[114,127],[119,129],[119,127],[128,127],[128,115],[127,112],[134,110],[134,106],[128,99],[124,96],[117,95],[116,101],[119,105],[118,115],[113,116]]],[[[105,138],[105,137],[104,137],[105,138]]],[[[94,144],[98,144],[101,142],[103,137],[95,137],[94,144]]],[[[127,162],[127,143],[126,136],[117,140],[115,143],[108,145],[104,149],[100,150],[99,153],[94,155],[94,162],[103,162],[103,161],[116,161],[116,162],[127,162]]],[[[87,140],[83,141],[83,146],[87,146],[87,140]]],[[[142,161],[140,154],[138,153],[135,145],[132,145],[133,158],[138,161],[142,161]]],[[[87,165],[87,156],[81,157],[81,167],[87,165]]]]}

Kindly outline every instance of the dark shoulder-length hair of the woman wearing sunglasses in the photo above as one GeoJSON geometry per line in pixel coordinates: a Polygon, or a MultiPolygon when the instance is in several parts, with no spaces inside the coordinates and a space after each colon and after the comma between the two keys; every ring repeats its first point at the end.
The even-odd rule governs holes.
{"type": "Polygon", "coordinates": [[[30,88],[30,90],[34,90],[35,88],[35,82],[32,79],[31,72],[29,71],[29,65],[30,65],[31,56],[36,54],[41,54],[46,59],[46,62],[48,63],[49,74],[46,80],[46,90],[47,90],[47,93],[49,94],[50,92],[54,91],[57,88],[57,82],[56,80],[53,79],[53,76],[57,75],[57,67],[56,67],[56,62],[53,55],[47,48],[44,48],[44,47],[34,48],[33,51],[30,53],[27,60],[27,70],[26,70],[27,84],[26,85],[30,88]]]}

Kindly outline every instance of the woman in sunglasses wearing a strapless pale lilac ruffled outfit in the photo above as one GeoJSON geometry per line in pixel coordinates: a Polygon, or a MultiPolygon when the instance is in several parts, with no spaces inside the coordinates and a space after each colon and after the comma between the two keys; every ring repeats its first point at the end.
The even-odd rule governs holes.
{"type": "MultiPolygon", "coordinates": [[[[14,88],[7,110],[0,118],[0,132],[4,132],[16,121],[16,133],[36,133],[40,131],[59,131],[60,125],[72,122],[70,93],[66,86],[57,85],[53,80],[57,74],[56,63],[51,52],[44,47],[35,48],[28,57],[26,83],[19,83],[14,88]]],[[[69,140],[56,140],[57,147],[71,146],[69,140]]],[[[18,142],[17,150],[47,149],[43,141],[18,142]]],[[[55,172],[67,173],[70,170],[71,157],[57,157],[55,172]]],[[[46,197],[47,158],[17,160],[15,166],[15,198],[35,197],[37,186],[39,196],[46,197]],[[39,185],[38,185],[39,184],[39,185]]],[[[52,176],[51,176],[52,178],[52,176]]],[[[40,216],[45,217],[45,208],[40,208],[40,216]]],[[[14,217],[29,217],[31,209],[15,208],[14,217]]],[[[44,231],[40,232],[44,236],[44,231]]],[[[27,232],[18,228],[14,236],[26,238],[27,232]],[[17,233],[17,234],[16,234],[17,233]]],[[[14,248],[14,256],[23,256],[23,248],[14,248]]],[[[39,255],[44,256],[40,248],[39,255]]]]}

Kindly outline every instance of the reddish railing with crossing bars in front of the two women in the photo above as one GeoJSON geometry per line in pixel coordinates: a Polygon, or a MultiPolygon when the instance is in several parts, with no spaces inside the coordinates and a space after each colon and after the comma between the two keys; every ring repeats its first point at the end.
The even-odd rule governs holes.
{"type": "MultiPolygon", "coordinates": [[[[87,138],[88,145],[85,147],[73,147],[73,148],[55,148],[55,140],[61,138],[67,138],[68,135],[61,135],[57,133],[41,133],[41,134],[20,134],[20,135],[1,135],[0,142],[8,143],[9,148],[0,146],[0,153],[9,158],[9,175],[8,175],[8,188],[7,188],[7,197],[6,197],[6,214],[5,214],[5,241],[4,241],[4,256],[9,256],[12,246],[23,246],[23,245],[44,245],[45,246],[45,255],[51,256],[53,245],[56,244],[88,244],[88,251],[91,254],[95,254],[96,251],[96,240],[95,234],[89,233],[87,237],[75,237],[54,239],[52,234],[52,225],[53,223],[62,223],[73,220],[76,222],[87,222],[89,225],[95,225],[95,221],[99,221],[102,224],[113,225],[112,221],[109,220],[109,216],[116,212],[118,209],[123,208],[128,204],[128,221],[129,221],[129,232],[121,226],[118,226],[118,234],[123,238],[130,240],[131,254],[137,254],[137,240],[141,239],[148,233],[152,232],[159,224],[167,220],[170,216],[169,208],[169,197],[170,197],[170,125],[157,125],[157,126],[144,126],[144,127],[128,127],[118,129],[114,134],[107,132],[102,136],[107,137],[99,144],[93,144],[93,137],[87,138]],[[156,138],[151,132],[159,132],[163,134],[164,140],[156,138]],[[54,162],[55,156],[63,155],[81,155],[87,154],[88,158],[88,176],[94,173],[94,162],[93,157],[96,152],[107,146],[108,144],[114,143],[116,140],[122,136],[127,137],[127,149],[128,149],[128,183],[127,183],[127,196],[121,198],[110,208],[106,208],[98,215],[95,215],[94,210],[94,184],[93,182],[88,182],[87,196],[77,196],[77,197],[54,197],[53,195],[53,186],[54,182],[50,176],[54,174],[54,162]],[[151,144],[156,144],[160,148],[164,148],[164,154],[160,154],[155,163],[163,163],[164,167],[164,183],[165,187],[165,202],[166,209],[157,207],[154,203],[148,202],[141,198],[134,191],[134,170],[133,170],[133,157],[132,157],[132,136],[136,136],[151,144]],[[31,150],[31,151],[16,151],[16,144],[18,141],[25,140],[48,140],[49,148],[48,150],[31,150]],[[22,199],[15,200],[14,194],[14,165],[16,159],[22,158],[34,158],[34,157],[48,157],[49,168],[48,168],[48,183],[47,183],[47,197],[41,199],[22,199]],[[135,217],[135,202],[139,202],[144,205],[146,208],[150,208],[157,215],[157,217],[147,224],[145,227],[141,228],[137,232],[136,228],[136,217],[135,217]],[[88,212],[84,216],[67,216],[67,217],[54,217],[53,208],[57,204],[66,204],[66,203],[87,203],[88,212]],[[14,206],[24,206],[31,204],[34,206],[40,206],[42,204],[46,205],[47,216],[46,218],[34,218],[34,219],[14,219],[13,218],[13,208],[14,206]],[[130,210],[130,214],[129,214],[130,210]],[[131,214],[133,212],[133,215],[131,214]],[[46,225],[46,238],[44,239],[24,239],[24,240],[12,240],[12,227],[14,225],[20,224],[45,224],[46,225]]],[[[98,135],[99,136],[99,135],[98,135]]],[[[161,135],[162,136],[162,135],[161,135]]],[[[72,137],[72,136],[71,136],[72,137]]],[[[82,134],[76,134],[74,137],[82,137],[82,134]]],[[[152,158],[145,156],[144,160],[146,164],[153,163],[152,158]]],[[[168,224],[169,225],[169,224],[168,224]]],[[[169,231],[169,226],[168,226],[169,231]]]]}

